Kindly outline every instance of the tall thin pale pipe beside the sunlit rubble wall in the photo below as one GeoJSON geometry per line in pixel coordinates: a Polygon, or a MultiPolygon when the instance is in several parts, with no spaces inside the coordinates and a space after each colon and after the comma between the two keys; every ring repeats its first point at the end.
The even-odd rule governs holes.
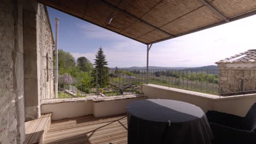
{"type": "Polygon", "coordinates": [[[59,34],[59,18],[55,18],[55,98],[58,98],[58,34],[59,34]]]}

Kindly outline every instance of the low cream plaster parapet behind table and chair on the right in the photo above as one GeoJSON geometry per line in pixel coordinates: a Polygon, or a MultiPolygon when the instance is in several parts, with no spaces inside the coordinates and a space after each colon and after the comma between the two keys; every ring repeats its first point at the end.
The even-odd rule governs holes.
{"type": "Polygon", "coordinates": [[[203,94],[175,88],[168,89],[156,85],[143,85],[142,92],[148,99],[172,99],[184,101],[201,107],[204,112],[217,110],[245,116],[249,108],[256,103],[256,94],[219,97],[217,95],[203,94]]]}

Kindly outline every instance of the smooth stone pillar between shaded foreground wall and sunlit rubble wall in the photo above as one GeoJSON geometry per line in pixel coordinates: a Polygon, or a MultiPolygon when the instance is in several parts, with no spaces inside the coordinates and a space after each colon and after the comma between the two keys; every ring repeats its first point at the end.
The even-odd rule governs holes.
{"type": "Polygon", "coordinates": [[[26,121],[40,116],[39,11],[37,1],[24,2],[24,94],[26,121]]]}

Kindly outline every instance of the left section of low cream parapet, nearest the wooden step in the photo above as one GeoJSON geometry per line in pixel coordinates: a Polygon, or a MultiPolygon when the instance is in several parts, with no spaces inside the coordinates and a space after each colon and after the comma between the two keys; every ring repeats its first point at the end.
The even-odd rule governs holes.
{"type": "Polygon", "coordinates": [[[66,101],[63,103],[41,105],[41,113],[53,112],[53,120],[91,115],[93,114],[92,109],[92,100],[66,101]]]}

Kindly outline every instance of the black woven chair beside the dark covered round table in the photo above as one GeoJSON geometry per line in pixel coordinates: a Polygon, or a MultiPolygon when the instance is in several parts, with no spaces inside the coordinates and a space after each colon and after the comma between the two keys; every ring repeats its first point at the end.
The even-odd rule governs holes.
{"type": "Polygon", "coordinates": [[[234,143],[238,141],[256,143],[256,103],[252,105],[245,117],[218,111],[208,111],[206,116],[212,129],[214,143],[222,140],[234,143]]]}

